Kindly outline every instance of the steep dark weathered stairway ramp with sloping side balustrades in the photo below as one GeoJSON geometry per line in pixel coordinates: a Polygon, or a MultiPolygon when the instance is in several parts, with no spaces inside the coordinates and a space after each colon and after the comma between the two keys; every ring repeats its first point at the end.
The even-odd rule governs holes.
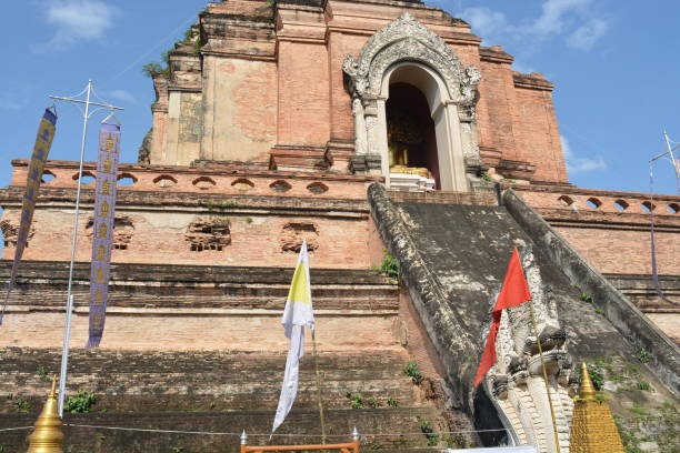
{"type": "MultiPolygon", "coordinates": [[[[387,248],[399,262],[402,285],[446,369],[452,403],[467,406],[478,429],[501,425],[490,399],[472,392],[472,382],[490,322],[490,300],[500,289],[513,248],[532,249],[542,294],[547,294],[543,301],[554,306],[540,308],[536,298],[538,322],[541,316],[554,316],[552,322],[563,329],[566,349],[574,363],[608,364],[603,389],[619,421],[633,426],[640,407],[644,414],[662,413],[663,407],[674,411],[680,382],[677,345],[511,191],[504,192],[503,205],[463,205],[392,201],[382,187],[372,184],[369,204],[387,248]],[[609,365],[612,363],[618,371],[609,365]],[[628,376],[626,385],[621,385],[623,376],[628,376]]],[[[528,325],[518,322],[517,331],[530,332],[528,325]]],[[[522,354],[520,350],[517,358],[522,354]]],[[[500,378],[497,401],[502,402],[508,393],[500,378]]],[[[564,384],[567,391],[571,384],[564,384]]],[[[563,414],[568,410],[564,404],[563,414]]],[[[664,434],[667,439],[677,436],[674,416],[662,414],[654,423],[660,432],[673,433],[664,434]]],[[[568,423],[562,423],[562,439],[568,433],[568,423]]],[[[648,435],[637,427],[627,434],[648,435]]],[[[486,446],[502,441],[496,433],[480,437],[486,446]]]]}

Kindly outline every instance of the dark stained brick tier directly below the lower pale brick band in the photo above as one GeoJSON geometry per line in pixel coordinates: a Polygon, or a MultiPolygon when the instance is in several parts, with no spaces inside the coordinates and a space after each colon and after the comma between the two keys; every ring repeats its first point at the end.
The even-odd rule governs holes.
{"type": "MultiPolygon", "coordinates": [[[[31,402],[38,414],[46,380],[39,371],[58,373],[61,350],[8,348],[1,350],[1,412],[14,412],[13,402],[31,402]],[[13,390],[11,390],[13,389],[13,390]],[[7,396],[11,393],[12,397],[7,396]]],[[[418,387],[406,376],[406,351],[321,353],[323,401],[329,409],[349,409],[347,392],[387,406],[419,405],[418,387]]],[[[252,353],[226,351],[111,351],[73,348],[69,359],[69,394],[97,395],[96,412],[181,412],[194,410],[276,410],[286,369],[286,351],[252,353]],[[211,404],[212,403],[212,404],[211,404]]],[[[301,360],[299,410],[318,404],[314,361],[301,360]]],[[[367,403],[368,404],[368,403],[367,403]]]]}

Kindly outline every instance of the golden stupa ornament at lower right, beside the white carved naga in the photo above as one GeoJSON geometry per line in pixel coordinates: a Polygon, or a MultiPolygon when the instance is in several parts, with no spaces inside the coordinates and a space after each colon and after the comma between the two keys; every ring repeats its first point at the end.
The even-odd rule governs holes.
{"type": "Polygon", "coordinates": [[[570,453],[624,453],[609,405],[598,397],[586,363],[581,365],[581,387],[573,404],[569,443],[570,453]]]}

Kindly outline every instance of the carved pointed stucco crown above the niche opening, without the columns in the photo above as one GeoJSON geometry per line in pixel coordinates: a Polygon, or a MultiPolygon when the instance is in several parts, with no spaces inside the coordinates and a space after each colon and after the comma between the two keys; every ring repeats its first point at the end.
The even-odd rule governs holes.
{"type": "Polygon", "coordinates": [[[399,61],[418,61],[437,70],[457,104],[476,102],[479,70],[474,66],[464,68],[443,39],[408,12],[378,30],[358,59],[344,58],[342,70],[350,77],[352,95],[364,100],[379,97],[382,76],[399,61]]]}

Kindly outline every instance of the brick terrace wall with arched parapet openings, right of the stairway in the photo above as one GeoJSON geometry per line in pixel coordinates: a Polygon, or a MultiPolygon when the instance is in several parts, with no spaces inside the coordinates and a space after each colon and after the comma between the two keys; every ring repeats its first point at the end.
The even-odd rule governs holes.
{"type": "Polygon", "coordinates": [[[657,271],[666,298],[680,300],[680,197],[580,188],[513,188],[560,235],[676,341],[680,308],[652,284],[651,217],[654,205],[657,271]]]}

